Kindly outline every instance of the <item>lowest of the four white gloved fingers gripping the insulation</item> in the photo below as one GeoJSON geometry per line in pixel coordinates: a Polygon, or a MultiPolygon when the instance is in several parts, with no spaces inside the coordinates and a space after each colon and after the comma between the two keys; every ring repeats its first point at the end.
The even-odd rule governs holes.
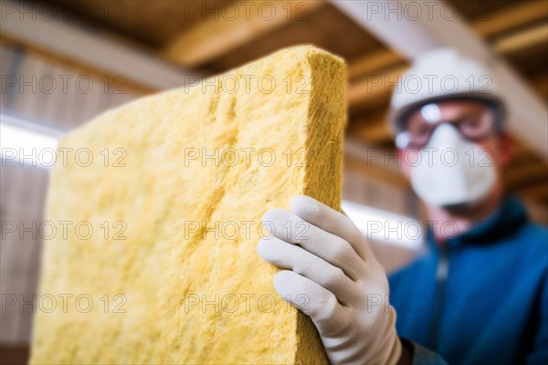
{"type": "Polygon", "coordinates": [[[278,294],[309,316],[321,336],[332,336],[349,323],[348,310],[329,290],[292,271],[280,271],[274,277],[278,294]]]}

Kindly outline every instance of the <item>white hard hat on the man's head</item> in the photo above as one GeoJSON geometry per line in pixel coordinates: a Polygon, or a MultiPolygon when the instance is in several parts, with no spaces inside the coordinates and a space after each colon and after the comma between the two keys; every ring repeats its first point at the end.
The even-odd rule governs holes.
{"type": "Polygon", "coordinates": [[[406,115],[416,107],[441,99],[480,99],[492,104],[502,122],[504,103],[490,69],[453,48],[438,48],[416,58],[398,80],[390,102],[390,124],[403,127],[406,115]]]}

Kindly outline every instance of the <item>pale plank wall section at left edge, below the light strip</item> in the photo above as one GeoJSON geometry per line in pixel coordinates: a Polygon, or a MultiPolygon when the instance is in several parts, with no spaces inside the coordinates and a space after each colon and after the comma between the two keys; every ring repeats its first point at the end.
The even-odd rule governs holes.
{"type": "Polygon", "coordinates": [[[35,308],[26,303],[36,303],[47,170],[4,162],[1,169],[0,342],[27,343],[35,308]]]}

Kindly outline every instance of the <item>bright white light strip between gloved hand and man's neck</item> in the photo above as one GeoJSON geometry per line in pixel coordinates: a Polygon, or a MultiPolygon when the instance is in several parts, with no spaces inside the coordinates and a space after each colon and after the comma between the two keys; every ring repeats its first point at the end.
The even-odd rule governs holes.
{"type": "Polygon", "coordinates": [[[412,250],[423,244],[424,227],[416,219],[346,200],[342,201],[342,210],[370,241],[412,250]]]}

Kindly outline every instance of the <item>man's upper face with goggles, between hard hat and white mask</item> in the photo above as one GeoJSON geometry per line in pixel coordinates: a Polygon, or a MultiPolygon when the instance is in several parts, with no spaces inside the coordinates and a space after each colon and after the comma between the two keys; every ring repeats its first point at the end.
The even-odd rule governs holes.
{"type": "Polygon", "coordinates": [[[498,183],[501,183],[501,171],[511,162],[512,143],[506,133],[497,132],[497,120],[490,107],[476,100],[440,101],[427,104],[409,115],[405,132],[398,135],[398,139],[403,137],[407,144],[402,148],[398,143],[400,165],[406,177],[410,178],[413,166],[408,163],[409,159],[402,158],[403,155],[424,149],[441,123],[450,123],[461,137],[489,153],[498,183]]]}

